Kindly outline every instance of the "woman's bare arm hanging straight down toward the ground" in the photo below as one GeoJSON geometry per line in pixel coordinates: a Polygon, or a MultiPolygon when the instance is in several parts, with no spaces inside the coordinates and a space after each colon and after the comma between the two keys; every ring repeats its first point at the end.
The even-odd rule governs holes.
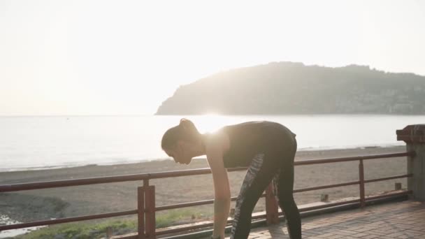
{"type": "Polygon", "coordinates": [[[222,143],[212,139],[206,147],[208,164],[210,164],[214,182],[214,238],[224,238],[224,228],[227,224],[230,210],[230,185],[227,170],[224,168],[222,143]]]}

